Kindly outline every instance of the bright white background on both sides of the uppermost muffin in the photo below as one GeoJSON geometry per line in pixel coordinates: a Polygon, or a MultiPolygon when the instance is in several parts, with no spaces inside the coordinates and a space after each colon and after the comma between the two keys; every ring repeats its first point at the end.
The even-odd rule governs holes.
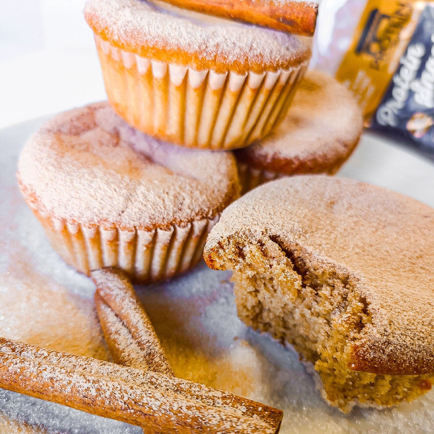
{"type": "MultiPolygon", "coordinates": [[[[351,40],[349,29],[365,3],[321,2],[320,43],[313,59],[322,69],[333,72],[339,63],[351,40]]],[[[82,15],[84,4],[0,0],[0,128],[105,99],[92,32],[82,15]]]]}

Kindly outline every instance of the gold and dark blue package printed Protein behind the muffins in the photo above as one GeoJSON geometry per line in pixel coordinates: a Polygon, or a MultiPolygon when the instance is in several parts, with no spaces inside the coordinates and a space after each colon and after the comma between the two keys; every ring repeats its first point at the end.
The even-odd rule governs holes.
{"type": "Polygon", "coordinates": [[[434,156],[434,2],[323,0],[320,20],[326,18],[321,8],[327,15],[336,3],[329,51],[321,46],[327,37],[317,36],[313,66],[352,90],[366,126],[411,138],[434,156]],[[349,29],[345,21],[354,20],[358,24],[349,29]],[[331,62],[333,45],[338,48],[331,62]]]}

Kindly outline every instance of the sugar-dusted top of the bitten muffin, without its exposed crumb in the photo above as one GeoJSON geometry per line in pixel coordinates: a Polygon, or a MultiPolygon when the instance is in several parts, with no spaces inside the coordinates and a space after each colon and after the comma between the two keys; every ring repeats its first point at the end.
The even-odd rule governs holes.
{"type": "Polygon", "coordinates": [[[223,240],[277,246],[315,275],[337,276],[369,318],[350,368],[376,374],[434,372],[434,210],[349,179],[311,175],[256,188],[230,205],[204,257],[226,268],[223,240]],[[268,244],[267,244],[268,243],[268,244]]]}

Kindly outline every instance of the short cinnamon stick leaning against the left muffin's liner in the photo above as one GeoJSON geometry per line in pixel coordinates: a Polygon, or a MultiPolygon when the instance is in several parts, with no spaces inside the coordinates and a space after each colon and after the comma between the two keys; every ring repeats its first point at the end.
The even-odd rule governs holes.
{"type": "Polygon", "coordinates": [[[173,375],[161,342],[128,276],[109,267],[92,271],[95,305],[109,350],[116,363],[173,375]]]}

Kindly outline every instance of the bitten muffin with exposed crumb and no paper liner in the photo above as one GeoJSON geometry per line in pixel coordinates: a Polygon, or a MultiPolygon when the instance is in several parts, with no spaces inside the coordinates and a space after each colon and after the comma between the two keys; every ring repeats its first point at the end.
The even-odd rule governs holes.
{"type": "Polygon", "coordinates": [[[434,210],[349,179],[272,181],[224,211],[207,264],[233,270],[240,318],[292,344],[342,411],[434,381],[434,210]]]}

